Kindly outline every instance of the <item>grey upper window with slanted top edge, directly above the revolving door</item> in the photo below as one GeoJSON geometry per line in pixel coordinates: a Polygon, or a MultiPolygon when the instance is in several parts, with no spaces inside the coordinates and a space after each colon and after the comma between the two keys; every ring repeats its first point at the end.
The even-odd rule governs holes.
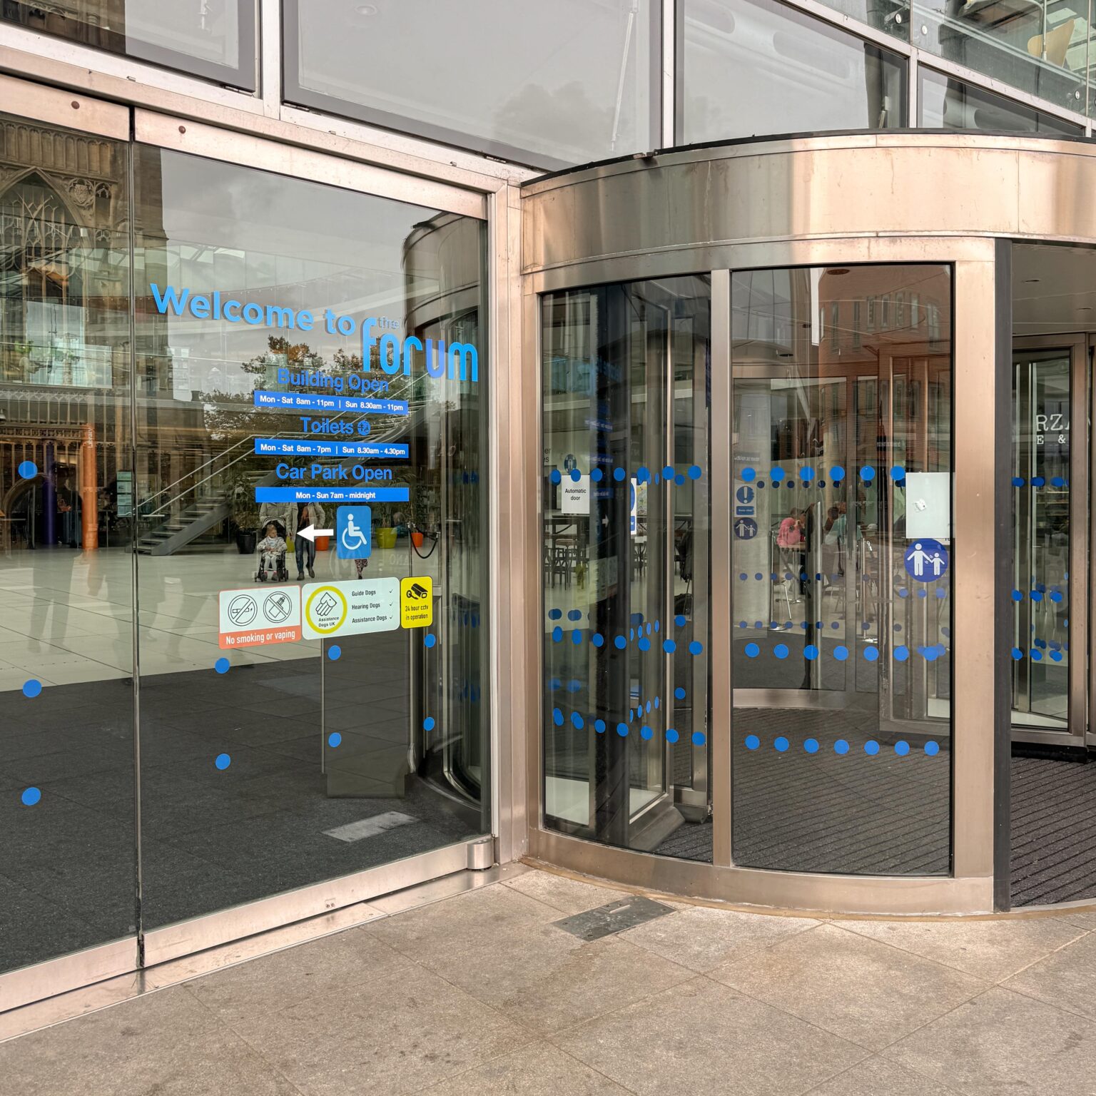
{"type": "Polygon", "coordinates": [[[773,0],[686,0],[684,144],[904,126],[901,57],[773,0]]]}

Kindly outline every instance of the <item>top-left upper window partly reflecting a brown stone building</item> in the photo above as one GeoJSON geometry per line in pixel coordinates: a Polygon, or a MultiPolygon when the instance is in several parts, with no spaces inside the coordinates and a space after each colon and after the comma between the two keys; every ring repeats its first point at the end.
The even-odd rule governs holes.
{"type": "Polygon", "coordinates": [[[252,0],[3,0],[0,19],[251,91],[252,0]]]}

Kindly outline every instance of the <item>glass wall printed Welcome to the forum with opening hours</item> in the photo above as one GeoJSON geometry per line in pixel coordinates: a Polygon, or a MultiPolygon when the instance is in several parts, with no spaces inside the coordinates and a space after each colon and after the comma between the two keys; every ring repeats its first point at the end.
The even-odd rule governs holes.
{"type": "Polygon", "coordinates": [[[0,133],[0,970],[490,832],[484,222],[0,133]]]}

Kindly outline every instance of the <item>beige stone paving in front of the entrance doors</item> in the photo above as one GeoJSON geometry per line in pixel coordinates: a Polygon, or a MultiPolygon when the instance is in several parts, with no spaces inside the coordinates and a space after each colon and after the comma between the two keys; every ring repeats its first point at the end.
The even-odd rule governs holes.
{"type": "Polygon", "coordinates": [[[1089,1096],[1093,914],[829,921],[543,871],[0,1044],[21,1096],[1089,1096]]]}

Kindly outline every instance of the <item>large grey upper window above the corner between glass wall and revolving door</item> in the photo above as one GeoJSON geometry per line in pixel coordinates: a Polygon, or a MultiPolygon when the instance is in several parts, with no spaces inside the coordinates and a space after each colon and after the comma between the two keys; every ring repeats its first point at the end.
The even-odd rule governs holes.
{"type": "Polygon", "coordinates": [[[287,0],[286,98],[544,167],[646,151],[659,144],[660,9],[287,0]]]}

